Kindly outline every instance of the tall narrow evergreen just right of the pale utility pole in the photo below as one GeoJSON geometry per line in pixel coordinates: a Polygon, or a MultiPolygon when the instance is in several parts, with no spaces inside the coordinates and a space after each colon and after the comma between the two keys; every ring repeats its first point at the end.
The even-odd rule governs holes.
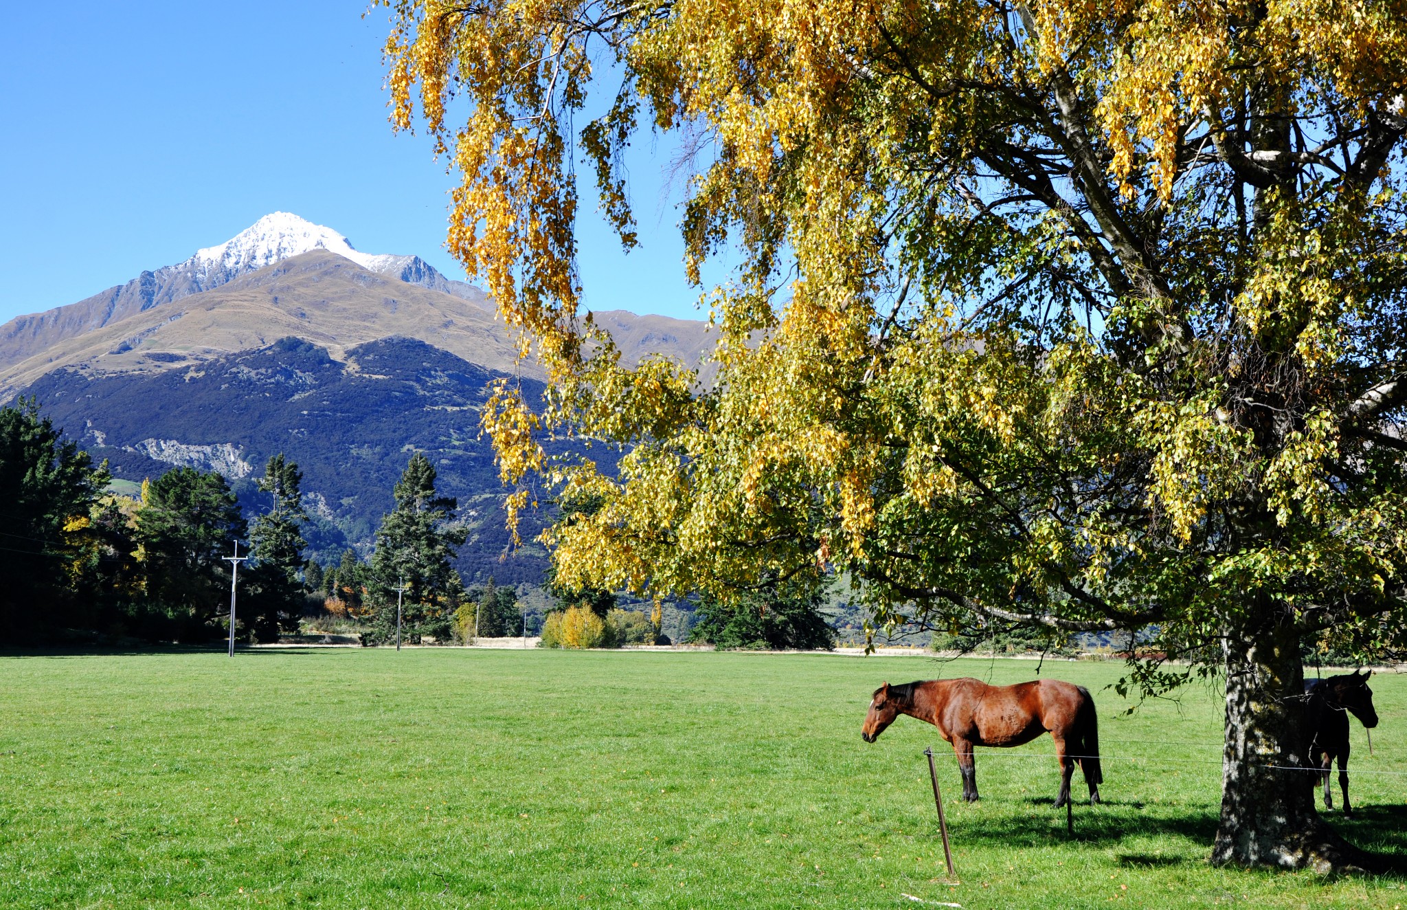
{"type": "Polygon", "coordinates": [[[280,452],[269,459],[257,485],[273,497],[273,504],[249,530],[255,556],[248,586],[249,623],[257,641],[279,641],[280,632],[297,631],[304,604],[298,580],[307,547],[301,525],[308,520],[303,510],[303,472],[280,452]]]}

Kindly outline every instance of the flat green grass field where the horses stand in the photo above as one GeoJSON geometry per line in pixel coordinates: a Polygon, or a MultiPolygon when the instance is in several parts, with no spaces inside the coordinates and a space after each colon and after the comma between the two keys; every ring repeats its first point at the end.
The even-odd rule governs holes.
{"type": "MultiPolygon", "coordinates": [[[[1397,907],[1407,879],[1217,869],[1206,687],[1089,686],[1103,806],[1052,809],[1050,738],[978,752],[944,882],[923,747],[860,740],[884,679],[1030,679],[1031,661],[546,651],[0,658],[4,907],[1397,907]]],[[[1407,854],[1407,679],[1354,723],[1359,844],[1407,854]],[[1396,773],[1366,773],[1369,771],[1396,773]]],[[[1078,783],[1076,778],[1076,783],[1078,783]]],[[[1079,785],[1078,790],[1082,790],[1079,785]]],[[[1341,823],[1338,813],[1335,821],[1341,823]]]]}

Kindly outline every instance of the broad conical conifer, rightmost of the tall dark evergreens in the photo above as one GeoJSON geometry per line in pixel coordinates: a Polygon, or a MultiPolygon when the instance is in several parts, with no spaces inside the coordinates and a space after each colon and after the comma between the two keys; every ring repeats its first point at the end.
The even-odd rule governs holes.
{"type": "MultiPolygon", "coordinates": [[[[453,524],[457,503],[435,490],[435,466],[416,452],[395,485],[395,509],[381,520],[371,556],[376,589],[369,641],[395,634],[395,592],[404,583],[402,624],[411,641],[447,635],[450,617],[463,596],[463,583],[450,565],[454,548],[469,532],[453,524]]],[[[340,573],[339,573],[340,575],[340,573]]]]}

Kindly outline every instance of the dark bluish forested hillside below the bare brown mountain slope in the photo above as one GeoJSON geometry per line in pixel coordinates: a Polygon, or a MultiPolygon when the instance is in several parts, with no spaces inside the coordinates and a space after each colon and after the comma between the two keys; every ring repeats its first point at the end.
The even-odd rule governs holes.
{"type": "MultiPolygon", "coordinates": [[[[255,476],[269,456],[286,454],[305,478],[310,555],[329,563],[348,545],[366,556],[391,510],[391,487],[411,455],[425,452],[470,527],[456,561],[466,582],[540,583],[536,528],[525,528],[528,547],[511,551],[492,452],[478,438],[478,407],[499,375],[415,339],[364,344],[342,363],[284,338],[189,370],[58,370],[24,394],[94,461],[106,458],[120,485],[174,465],[215,469],[252,511],[263,497],[255,476]]],[[[540,396],[540,383],[522,383],[540,396]]]]}

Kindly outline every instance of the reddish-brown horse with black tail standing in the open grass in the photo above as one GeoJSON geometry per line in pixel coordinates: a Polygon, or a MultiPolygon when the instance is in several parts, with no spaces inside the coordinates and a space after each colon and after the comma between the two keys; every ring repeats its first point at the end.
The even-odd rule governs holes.
{"type": "Polygon", "coordinates": [[[1099,720],[1095,700],[1083,686],[1041,679],[1014,686],[989,686],[981,679],[930,679],[875,689],[860,735],[874,742],[899,714],[917,717],[938,728],[953,744],[962,772],[962,799],[976,802],[976,765],[972,748],[1030,742],[1043,733],[1055,740],[1061,785],[1055,807],[1069,802],[1069,779],[1078,761],[1089,785],[1089,802],[1099,802],[1099,720]]]}

